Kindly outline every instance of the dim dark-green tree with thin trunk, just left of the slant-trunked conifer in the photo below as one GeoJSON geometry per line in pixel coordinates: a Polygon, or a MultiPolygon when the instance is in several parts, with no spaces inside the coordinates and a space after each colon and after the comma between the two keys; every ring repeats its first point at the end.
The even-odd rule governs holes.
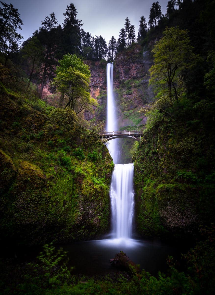
{"type": "Polygon", "coordinates": [[[30,71],[28,87],[31,84],[31,79],[36,65],[39,67],[39,64],[41,63],[43,51],[44,48],[42,47],[36,36],[28,38],[25,42],[23,42],[20,48],[22,58],[26,60],[27,66],[30,71]]]}

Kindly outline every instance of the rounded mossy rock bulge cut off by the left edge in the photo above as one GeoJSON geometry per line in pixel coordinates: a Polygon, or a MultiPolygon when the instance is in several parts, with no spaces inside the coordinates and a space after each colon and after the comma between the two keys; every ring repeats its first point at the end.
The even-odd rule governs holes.
{"type": "Polygon", "coordinates": [[[16,168],[11,158],[0,150],[0,192],[3,193],[11,185],[16,168]]]}

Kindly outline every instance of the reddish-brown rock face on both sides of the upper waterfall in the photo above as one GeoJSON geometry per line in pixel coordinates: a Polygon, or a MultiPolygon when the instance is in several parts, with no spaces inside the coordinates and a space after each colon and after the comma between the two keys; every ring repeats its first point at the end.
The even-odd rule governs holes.
{"type": "MultiPolygon", "coordinates": [[[[91,71],[91,96],[99,106],[95,112],[97,120],[106,120],[106,63],[86,60],[91,71]]],[[[138,113],[144,104],[151,101],[153,92],[149,86],[149,68],[152,58],[141,45],[118,53],[114,60],[114,95],[117,104],[117,118],[120,130],[130,128],[141,130],[146,117],[138,113]]]]}

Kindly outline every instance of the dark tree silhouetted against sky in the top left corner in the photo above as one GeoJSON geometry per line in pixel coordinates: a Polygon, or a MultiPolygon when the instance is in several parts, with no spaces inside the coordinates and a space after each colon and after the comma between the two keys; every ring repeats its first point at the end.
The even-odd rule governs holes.
{"type": "MultiPolygon", "coordinates": [[[[0,1],[1,2],[1,1],[0,1]]],[[[0,51],[5,57],[5,65],[11,54],[17,53],[19,44],[23,38],[16,32],[17,28],[21,30],[23,22],[19,18],[18,9],[12,4],[1,2],[0,7],[0,51]]]]}

